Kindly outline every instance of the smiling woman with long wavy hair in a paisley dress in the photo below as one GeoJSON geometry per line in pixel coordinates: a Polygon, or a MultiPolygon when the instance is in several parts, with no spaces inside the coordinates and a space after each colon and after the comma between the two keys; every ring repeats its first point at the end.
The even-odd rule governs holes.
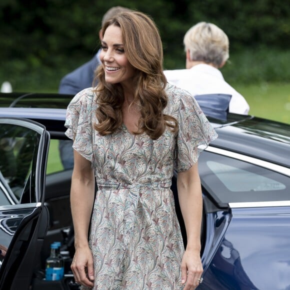
{"type": "Polygon", "coordinates": [[[216,133],[192,96],[166,83],[147,15],[126,11],[104,23],[100,60],[98,85],[75,95],[65,123],[74,140],[75,280],[93,289],[194,289],[202,273],[197,158],[216,133]]]}

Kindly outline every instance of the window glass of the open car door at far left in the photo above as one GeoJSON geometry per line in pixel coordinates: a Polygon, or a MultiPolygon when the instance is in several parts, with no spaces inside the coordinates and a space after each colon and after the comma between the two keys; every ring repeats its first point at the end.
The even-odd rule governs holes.
{"type": "Polygon", "coordinates": [[[40,135],[29,128],[12,124],[0,126],[0,172],[4,179],[1,186],[5,188],[3,192],[10,192],[10,199],[15,203],[21,202],[25,190],[25,202],[35,202],[35,195],[30,196],[29,188],[30,176],[35,173],[31,168],[37,160],[39,139],[40,135]]]}

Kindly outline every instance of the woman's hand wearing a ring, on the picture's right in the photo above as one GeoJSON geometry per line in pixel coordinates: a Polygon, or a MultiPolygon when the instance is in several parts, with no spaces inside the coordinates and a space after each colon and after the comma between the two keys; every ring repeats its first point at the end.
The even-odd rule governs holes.
{"type": "Polygon", "coordinates": [[[199,285],[202,271],[199,251],[186,249],[181,261],[181,284],[185,284],[184,290],[192,290],[199,285]]]}

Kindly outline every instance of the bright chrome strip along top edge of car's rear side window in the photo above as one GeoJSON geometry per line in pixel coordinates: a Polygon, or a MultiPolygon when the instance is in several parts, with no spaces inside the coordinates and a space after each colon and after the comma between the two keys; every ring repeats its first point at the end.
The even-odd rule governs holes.
{"type": "Polygon", "coordinates": [[[246,156],[240,153],[236,153],[236,152],[232,152],[232,151],[228,151],[225,149],[220,149],[220,148],[216,148],[216,147],[212,147],[212,146],[208,146],[207,148],[205,148],[206,151],[212,152],[212,153],[217,153],[220,155],[224,155],[227,157],[231,157],[231,158],[235,158],[238,160],[242,160],[248,163],[252,163],[254,165],[258,165],[279,173],[282,173],[284,175],[290,176],[290,168],[281,166],[281,165],[277,165],[268,161],[264,161],[261,159],[257,159],[254,157],[250,157],[250,156],[246,156]]]}

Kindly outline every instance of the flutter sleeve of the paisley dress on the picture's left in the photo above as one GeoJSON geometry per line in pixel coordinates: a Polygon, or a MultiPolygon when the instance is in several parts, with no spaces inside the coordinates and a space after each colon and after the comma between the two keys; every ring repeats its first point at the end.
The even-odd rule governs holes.
{"type": "Polygon", "coordinates": [[[78,92],[66,109],[65,135],[73,140],[73,149],[93,162],[92,154],[92,114],[94,113],[92,88],[78,92]]]}

